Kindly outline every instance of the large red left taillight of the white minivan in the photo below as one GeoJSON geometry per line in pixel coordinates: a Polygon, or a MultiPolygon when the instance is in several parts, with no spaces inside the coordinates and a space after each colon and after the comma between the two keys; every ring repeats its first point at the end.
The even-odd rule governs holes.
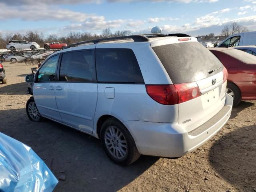
{"type": "Polygon", "coordinates": [[[196,83],[146,85],[148,95],[163,105],[183,103],[201,95],[196,83]]]}

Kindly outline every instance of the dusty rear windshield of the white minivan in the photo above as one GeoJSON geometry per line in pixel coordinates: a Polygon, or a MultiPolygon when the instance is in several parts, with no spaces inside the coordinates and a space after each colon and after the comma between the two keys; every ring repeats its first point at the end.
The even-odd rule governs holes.
{"type": "Polygon", "coordinates": [[[222,63],[198,42],[167,44],[152,49],[174,84],[195,82],[222,71],[222,63]],[[216,71],[210,74],[212,70],[216,71]]]}

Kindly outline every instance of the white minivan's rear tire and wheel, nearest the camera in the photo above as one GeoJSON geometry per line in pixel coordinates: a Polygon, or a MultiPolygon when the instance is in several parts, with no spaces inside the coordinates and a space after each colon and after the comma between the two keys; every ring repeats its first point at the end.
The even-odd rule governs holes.
{"type": "Polygon", "coordinates": [[[107,156],[116,164],[126,166],[140,157],[132,135],[115,118],[109,118],[102,124],[100,140],[107,156]]]}

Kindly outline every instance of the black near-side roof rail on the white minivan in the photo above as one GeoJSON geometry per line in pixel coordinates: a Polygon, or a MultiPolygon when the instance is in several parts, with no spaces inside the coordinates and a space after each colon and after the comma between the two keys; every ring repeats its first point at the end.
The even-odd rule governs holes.
{"type": "Polygon", "coordinates": [[[70,47],[75,47],[75,46],[78,46],[78,45],[86,44],[86,43],[97,44],[97,43],[100,43],[100,42],[127,40],[127,39],[132,39],[132,40],[134,40],[134,42],[148,42],[149,41],[149,38],[147,38],[145,36],[142,36],[142,35],[130,35],[130,36],[110,37],[110,38],[102,38],[102,39],[95,39],[95,40],[89,40],[89,41],[82,41],[82,42],[79,42],[79,43],[70,44],[66,47],[66,49],[70,48],[70,47]]]}

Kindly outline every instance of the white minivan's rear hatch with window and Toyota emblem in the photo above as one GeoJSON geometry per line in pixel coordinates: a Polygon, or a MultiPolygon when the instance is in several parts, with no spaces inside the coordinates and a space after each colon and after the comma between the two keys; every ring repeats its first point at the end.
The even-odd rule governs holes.
{"type": "Polygon", "coordinates": [[[226,98],[224,67],[208,49],[190,41],[152,49],[178,90],[178,124],[187,132],[204,124],[223,108],[226,98]]]}

